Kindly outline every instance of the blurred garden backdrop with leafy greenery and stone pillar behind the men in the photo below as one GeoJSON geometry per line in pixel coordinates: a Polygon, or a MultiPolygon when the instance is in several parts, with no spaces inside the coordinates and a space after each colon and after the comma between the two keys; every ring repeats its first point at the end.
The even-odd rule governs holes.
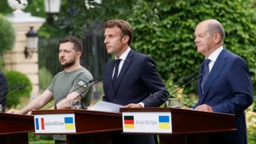
{"type": "MultiPolygon", "coordinates": [[[[63,70],[58,60],[59,40],[77,36],[83,41],[81,65],[93,77],[102,75],[111,60],[103,43],[104,22],[128,21],[134,30],[131,48],[154,58],[168,86],[198,72],[204,60],[196,52],[194,30],[206,19],[216,19],[225,28],[224,46],[249,65],[256,87],[256,1],[252,0],[2,0],[0,1],[0,70],[9,87],[30,84],[7,97],[7,111],[21,109],[42,93],[63,70]]],[[[173,92],[179,85],[169,89],[173,92]]],[[[255,89],[254,89],[255,94],[255,89]]],[[[93,103],[101,100],[102,83],[94,86],[93,103]]],[[[197,100],[196,82],[173,97],[183,106],[197,100]]],[[[50,102],[43,109],[53,106],[50,102]]],[[[246,110],[249,143],[256,143],[256,106],[246,110]]],[[[51,135],[29,134],[29,143],[54,143],[51,135]]]]}

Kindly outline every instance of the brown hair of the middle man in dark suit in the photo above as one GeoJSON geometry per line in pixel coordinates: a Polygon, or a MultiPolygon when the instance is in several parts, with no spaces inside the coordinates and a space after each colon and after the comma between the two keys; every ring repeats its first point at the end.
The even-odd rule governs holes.
{"type": "Polygon", "coordinates": [[[118,27],[119,29],[121,29],[122,31],[122,36],[129,36],[129,41],[128,41],[128,45],[132,44],[132,37],[133,37],[133,30],[131,25],[121,19],[117,19],[117,20],[108,20],[105,22],[105,28],[113,28],[113,27],[118,27]]]}

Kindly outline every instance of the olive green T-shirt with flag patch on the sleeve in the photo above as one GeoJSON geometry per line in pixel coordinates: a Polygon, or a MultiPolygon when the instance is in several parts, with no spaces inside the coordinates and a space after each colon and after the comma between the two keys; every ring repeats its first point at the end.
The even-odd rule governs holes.
{"type": "MultiPolygon", "coordinates": [[[[56,103],[58,99],[57,103],[67,98],[65,95],[71,91],[77,92],[83,97],[81,100],[81,106],[82,109],[85,109],[91,105],[93,98],[93,86],[91,86],[92,83],[88,85],[84,84],[87,84],[91,79],[93,79],[91,73],[84,67],[70,71],[69,73],[66,73],[66,71],[63,70],[53,77],[47,90],[53,93],[54,103],[56,103]],[[86,90],[88,87],[90,88],[86,90]]],[[[66,135],[54,135],[53,139],[66,141],[66,135]]]]}

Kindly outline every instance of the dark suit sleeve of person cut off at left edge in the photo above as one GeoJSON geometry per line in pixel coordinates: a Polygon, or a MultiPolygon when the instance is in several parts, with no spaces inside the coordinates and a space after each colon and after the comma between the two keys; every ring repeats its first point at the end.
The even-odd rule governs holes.
{"type": "MultiPolygon", "coordinates": [[[[0,93],[2,93],[3,91],[6,91],[8,89],[9,89],[9,87],[8,87],[5,75],[2,73],[2,71],[0,71],[0,93]]],[[[6,94],[7,94],[7,92],[0,94],[0,99],[5,97],[6,94]]],[[[0,100],[0,105],[2,105],[3,112],[4,112],[5,107],[6,107],[6,98],[4,98],[3,100],[0,100]]]]}

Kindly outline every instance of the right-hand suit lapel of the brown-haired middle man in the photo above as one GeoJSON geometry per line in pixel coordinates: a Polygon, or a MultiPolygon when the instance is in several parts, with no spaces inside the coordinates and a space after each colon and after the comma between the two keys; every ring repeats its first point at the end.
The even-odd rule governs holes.
{"type": "Polygon", "coordinates": [[[118,81],[118,85],[117,85],[117,88],[116,88],[116,91],[118,90],[118,87],[119,87],[119,84],[126,72],[126,70],[128,69],[128,67],[131,65],[132,63],[132,60],[133,60],[133,56],[134,56],[134,51],[133,50],[130,50],[129,54],[127,55],[125,61],[124,61],[124,64],[122,66],[122,69],[117,77],[117,81],[118,81]]]}

